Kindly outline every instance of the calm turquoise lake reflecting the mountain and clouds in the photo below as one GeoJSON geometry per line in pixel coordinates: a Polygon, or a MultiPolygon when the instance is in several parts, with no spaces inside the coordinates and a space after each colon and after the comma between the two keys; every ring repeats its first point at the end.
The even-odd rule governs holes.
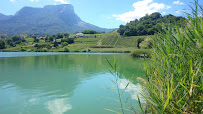
{"type": "MultiPolygon", "coordinates": [[[[117,60],[125,108],[137,109],[142,58],[112,53],[0,52],[0,114],[112,114],[121,112],[108,59],[117,60]],[[107,88],[111,89],[108,90],[107,88]],[[129,96],[131,94],[131,96],[129,96]],[[129,96],[129,97],[128,97],[129,96]]],[[[125,110],[133,113],[132,110],[125,110]]]]}

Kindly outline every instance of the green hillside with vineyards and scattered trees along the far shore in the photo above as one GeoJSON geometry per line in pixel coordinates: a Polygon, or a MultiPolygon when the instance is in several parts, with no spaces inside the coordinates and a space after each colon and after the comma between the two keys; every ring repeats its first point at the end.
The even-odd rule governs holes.
{"type": "Polygon", "coordinates": [[[117,32],[101,34],[85,34],[77,38],[75,34],[60,33],[47,37],[12,36],[2,39],[5,46],[0,51],[27,52],[131,52],[139,48],[139,44],[150,36],[123,37],[117,32]]]}

